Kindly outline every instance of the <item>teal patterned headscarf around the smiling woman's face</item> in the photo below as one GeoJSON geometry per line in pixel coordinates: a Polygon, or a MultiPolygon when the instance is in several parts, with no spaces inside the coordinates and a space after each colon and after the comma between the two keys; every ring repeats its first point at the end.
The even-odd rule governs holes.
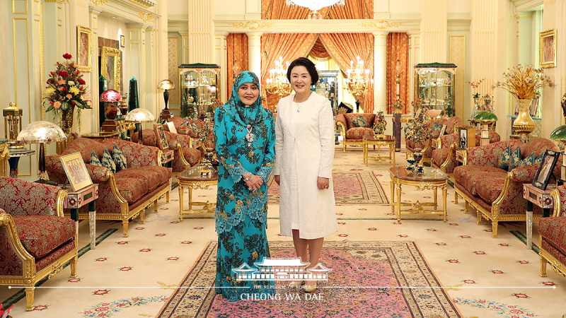
{"type": "Polygon", "coordinates": [[[229,114],[233,114],[233,112],[237,113],[244,124],[251,124],[256,120],[260,120],[261,118],[258,116],[258,113],[262,111],[263,107],[261,105],[260,79],[258,76],[250,71],[242,71],[239,73],[234,79],[232,95],[224,107],[229,114]],[[260,91],[258,100],[250,106],[245,105],[242,100],[240,100],[240,95],[238,95],[238,90],[244,83],[254,83],[258,86],[258,90],[260,91]]]}

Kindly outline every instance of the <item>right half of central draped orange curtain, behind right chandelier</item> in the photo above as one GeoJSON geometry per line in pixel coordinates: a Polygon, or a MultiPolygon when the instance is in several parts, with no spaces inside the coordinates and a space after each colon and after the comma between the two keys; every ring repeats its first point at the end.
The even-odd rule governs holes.
{"type": "MultiPolygon", "coordinates": [[[[366,69],[369,69],[370,78],[374,78],[374,35],[371,33],[321,33],[319,36],[330,57],[343,73],[346,74],[347,69],[350,69],[350,61],[360,57],[364,60],[366,69]]],[[[369,89],[360,102],[362,102],[364,112],[374,112],[374,90],[369,89]]]]}

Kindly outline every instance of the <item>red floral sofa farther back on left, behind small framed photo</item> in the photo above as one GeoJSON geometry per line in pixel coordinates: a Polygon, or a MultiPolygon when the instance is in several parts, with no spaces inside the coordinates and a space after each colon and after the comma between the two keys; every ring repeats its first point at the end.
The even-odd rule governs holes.
{"type": "MultiPolygon", "coordinates": [[[[141,135],[144,139],[144,145],[156,146],[157,138],[154,129],[144,129],[144,131],[141,131],[141,135]]],[[[169,143],[169,149],[175,152],[171,163],[173,175],[177,175],[178,173],[183,172],[186,168],[199,163],[201,152],[191,147],[192,139],[190,136],[175,134],[171,131],[165,131],[165,135],[167,137],[167,142],[169,143]]],[[[136,143],[138,138],[138,135],[134,134],[134,136],[132,136],[132,141],[136,143]]]]}

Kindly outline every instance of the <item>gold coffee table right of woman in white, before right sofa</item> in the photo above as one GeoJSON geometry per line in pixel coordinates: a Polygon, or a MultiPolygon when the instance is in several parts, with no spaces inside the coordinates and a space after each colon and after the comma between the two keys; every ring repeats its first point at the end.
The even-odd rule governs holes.
{"type": "Polygon", "coordinates": [[[424,167],[424,174],[417,176],[415,172],[405,169],[405,167],[395,166],[389,168],[391,174],[391,211],[397,214],[397,222],[401,222],[401,213],[417,214],[442,214],[444,223],[446,223],[446,187],[448,185],[448,175],[440,169],[434,167],[424,167]],[[434,192],[433,202],[420,202],[417,200],[414,204],[401,202],[401,185],[410,185],[420,190],[432,190],[434,192]],[[437,191],[442,189],[442,210],[437,210],[437,191]],[[397,196],[395,197],[395,188],[397,196]],[[401,210],[401,206],[410,206],[411,208],[401,210]],[[432,206],[433,210],[425,210],[425,206],[432,206]]]}

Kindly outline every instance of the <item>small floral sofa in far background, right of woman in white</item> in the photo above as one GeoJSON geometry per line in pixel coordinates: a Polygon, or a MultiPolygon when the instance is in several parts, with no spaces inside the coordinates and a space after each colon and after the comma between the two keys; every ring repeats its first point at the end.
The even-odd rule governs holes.
{"type": "Polygon", "coordinates": [[[364,139],[374,138],[374,122],[376,114],[337,114],[336,124],[342,131],[340,135],[344,139],[344,151],[346,146],[362,146],[364,139]]]}

